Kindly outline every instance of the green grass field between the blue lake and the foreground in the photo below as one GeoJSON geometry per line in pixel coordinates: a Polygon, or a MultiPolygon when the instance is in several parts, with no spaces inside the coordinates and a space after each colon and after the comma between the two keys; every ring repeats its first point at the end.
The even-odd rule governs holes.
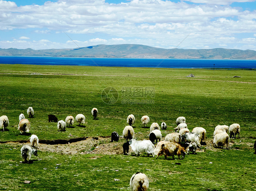
{"type": "Polygon", "coordinates": [[[0,132],[0,190],[129,190],[130,178],[138,171],[149,177],[149,190],[256,190],[256,71],[19,64],[0,67],[0,116],[7,115],[10,123],[6,131],[0,132]],[[29,75],[34,72],[43,75],[29,75]],[[185,77],[191,73],[195,78],[185,77]],[[235,75],[241,78],[232,78],[235,75]],[[104,103],[108,99],[102,91],[107,87],[117,91],[119,98],[114,104],[104,103]],[[145,94],[147,90],[153,93],[145,94]],[[138,104],[127,103],[128,99],[138,104]],[[21,135],[17,130],[19,115],[23,112],[27,118],[29,106],[35,111],[34,118],[28,118],[31,130],[21,135]],[[98,120],[93,120],[90,113],[94,107],[99,110],[98,120]],[[85,115],[85,126],[75,123],[65,132],[57,130],[57,123],[48,122],[49,114],[65,120],[79,113],[85,115]],[[18,143],[26,142],[31,134],[41,141],[110,137],[113,131],[122,135],[129,114],[136,118],[134,131],[139,140],[148,139],[149,134],[149,128],[142,128],[141,116],[148,115],[150,124],[166,122],[163,136],[173,132],[177,117],[184,116],[190,131],[198,126],[206,129],[207,145],[182,161],[165,160],[163,156],[156,160],[146,154],[136,157],[132,151],[129,156],[79,154],[80,150],[67,155],[40,150],[39,145],[39,156],[33,156],[31,164],[20,163],[18,143]],[[240,139],[231,139],[229,150],[211,149],[208,144],[212,143],[214,127],[232,123],[240,124],[240,139]],[[24,180],[31,183],[24,184],[24,180]]]}

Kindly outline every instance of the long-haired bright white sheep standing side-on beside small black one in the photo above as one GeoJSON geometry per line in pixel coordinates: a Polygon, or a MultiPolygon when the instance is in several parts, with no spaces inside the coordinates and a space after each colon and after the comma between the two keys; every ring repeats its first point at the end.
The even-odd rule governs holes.
{"type": "Polygon", "coordinates": [[[132,150],[135,152],[136,156],[140,156],[140,152],[146,152],[148,153],[148,156],[150,154],[153,155],[153,157],[155,156],[155,153],[154,153],[154,144],[151,143],[150,140],[135,140],[135,139],[132,139],[131,140],[131,148],[132,150]]]}

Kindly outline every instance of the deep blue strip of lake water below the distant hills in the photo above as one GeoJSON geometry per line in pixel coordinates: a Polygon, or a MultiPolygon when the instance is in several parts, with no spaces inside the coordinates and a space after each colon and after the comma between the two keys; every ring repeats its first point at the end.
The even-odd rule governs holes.
{"type": "Polygon", "coordinates": [[[128,59],[0,56],[0,63],[158,68],[256,68],[256,60],[214,59],[128,59]]]}

